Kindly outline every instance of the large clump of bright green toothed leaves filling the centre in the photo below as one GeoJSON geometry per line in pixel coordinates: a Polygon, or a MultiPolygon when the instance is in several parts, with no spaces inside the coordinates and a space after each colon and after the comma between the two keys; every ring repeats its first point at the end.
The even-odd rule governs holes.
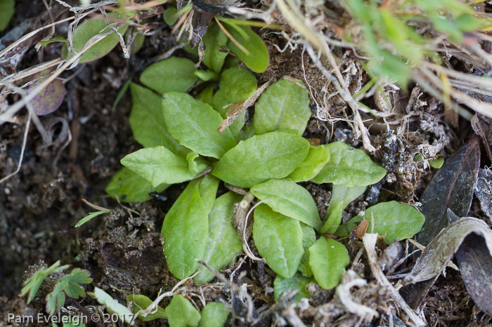
{"type": "MultiPolygon", "coordinates": [[[[212,26],[209,32],[220,30],[212,26]]],[[[354,220],[340,227],[344,208],[386,171],[362,150],[343,142],[309,145],[302,138],[311,116],[309,95],[300,81],[292,79],[266,88],[252,123],[245,126],[240,116],[219,133],[227,108],[257,88],[248,69],[222,71],[225,59],[219,51],[205,53],[202,62],[216,70],[209,71],[214,78],[202,79],[209,86],[197,98],[185,92],[199,77],[212,75],[199,73],[203,71],[183,58],[157,62],[143,72],[141,82],[152,90],[131,84],[130,124],[144,148],[122,159],[126,168],[110,182],[108,193],[138,201],[148,199],[150,190],[189,181],[164,218],[164,255],[174,276],[186,279],[198,270],[195,282],[203,283],[214,274],[198,260],[220,270],[243,251],[242,231],[238,235],[232,225],[241,196],[228,192],[216,199],[219,182],[250,188],[248,196],[264,201],[254,209],[252,236],[259,255],[277,273],[276,298],[287,288],[309,296],[304,287],[310,282],[334,288],[350,260],[345,246],[325,234],[350,231],[354,220]],[[128,177],[129,182],[124,180],[128,177]],[[311,194],[297,184],[309,180],[334,184],[323,220],[311,194]]],[[[423,223],[415,208],[397,202],[380,203],[368,212],[373,213],[375,231],[389,242],[413,236],[423,223]]],[[[198,316],[190,313],[188,318],[198,316]]]]}

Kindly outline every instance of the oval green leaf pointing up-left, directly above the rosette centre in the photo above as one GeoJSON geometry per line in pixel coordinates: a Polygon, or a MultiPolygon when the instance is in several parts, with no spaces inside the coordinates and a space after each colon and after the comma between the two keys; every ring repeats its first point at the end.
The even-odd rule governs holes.
{"type": "Polygon", "coordinates": [[[169,133],[181,145],[202,156],[219,159],[236,144],[229,128],[222,133],[217,131],[222,122],[221,115],[210,105],[193,99],[191,95],[165,93],[162,112],[169,133]]]}

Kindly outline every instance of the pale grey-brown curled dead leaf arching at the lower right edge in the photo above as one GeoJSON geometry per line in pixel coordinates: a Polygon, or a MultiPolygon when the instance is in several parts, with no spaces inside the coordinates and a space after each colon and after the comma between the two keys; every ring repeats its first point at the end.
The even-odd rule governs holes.
{"type": "MultiPolygon", "coordinates": [[[[405,277],[404,283],[417,283],[426,281],[441,274],[451,261],[466,236],[478,234],[484,238],[488,248],[488,256],[492,255],[492,231],[483,220],[465,217],[448,225],[429,245],[417,259],[412,272],[405,277]]],[[[474,235],[475,238],[479,237],[474,235]]],[[[488,272],[492,275],[492,271],[488,272]]]]}

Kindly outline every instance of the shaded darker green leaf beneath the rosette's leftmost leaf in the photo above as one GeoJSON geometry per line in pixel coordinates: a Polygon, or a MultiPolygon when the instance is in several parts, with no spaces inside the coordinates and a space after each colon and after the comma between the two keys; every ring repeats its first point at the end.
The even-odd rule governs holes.
{"type": "Polygon", "coordinates": [[[150,199],[150,192],[162,192],[167,187],[169,185],[163,184],[153,188],[149,182],[124,167],[112,177],[105,191],[123,202],[143,202],[150,199]]]}

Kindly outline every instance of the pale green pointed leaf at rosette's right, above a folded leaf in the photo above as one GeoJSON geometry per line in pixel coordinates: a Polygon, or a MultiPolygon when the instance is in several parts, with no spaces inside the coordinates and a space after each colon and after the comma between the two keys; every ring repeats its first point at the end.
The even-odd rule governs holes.
{"type": "Polygon", "coordinates": [[[386,170],[373,163],[361,149],[354,149],[344,142],[333,142],[325,147],[330,152],[330,160],[312,179],[313,182],[367,186],[379,182],[386,175],[386,170]]]}

